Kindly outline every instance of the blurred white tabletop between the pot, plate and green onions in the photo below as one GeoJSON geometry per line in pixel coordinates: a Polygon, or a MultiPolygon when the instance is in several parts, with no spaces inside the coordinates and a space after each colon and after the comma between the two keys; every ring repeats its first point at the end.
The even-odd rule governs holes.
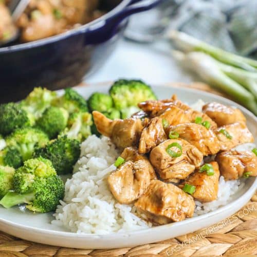
{"type": "Polygon", "coordinates": [[[122,39],[112,56],[85,82],[142,79],[149,84],[190,82],[192,78],[178,66],[167,42],[140,44],[122,39]]]}

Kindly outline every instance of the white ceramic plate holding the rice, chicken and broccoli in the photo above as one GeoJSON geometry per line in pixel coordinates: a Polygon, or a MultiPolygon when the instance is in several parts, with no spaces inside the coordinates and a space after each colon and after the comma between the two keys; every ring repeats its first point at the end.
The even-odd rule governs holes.
{"type": "MultiPolygon", "coordinates": [[[[106,86],[83,86],[79,87],[78,91],[85,98],[88,98],[96,90],[105,93],[107,89],[106,86]]],[[[247,125],[254,135],[255,143],[257,143],[257,118],[242,106],[225,98],[194,89],[169,86],[154,86],[153,89],[159,99],[169,98],[172,94],[177,94],[179,99],[189,104],[202,99],[205,102],[216,101],[240,108],[247,118],[247,125]]],[[[29,211],[21,213],[19,208],[0,209],[0,229],[25,240],[62,247],[85,249],[132,247],[187,234],[222,221],[222,219],[242,208],[254,194],[256,188],[257,178],[249,178],[246,180],[245,187],[233,195],[232,201],[227,206],[182,222],[141,231],[109,235],[76,234],[51,225],[50,221],[53,218],[51,214],[34,214],[29,211]]]]}

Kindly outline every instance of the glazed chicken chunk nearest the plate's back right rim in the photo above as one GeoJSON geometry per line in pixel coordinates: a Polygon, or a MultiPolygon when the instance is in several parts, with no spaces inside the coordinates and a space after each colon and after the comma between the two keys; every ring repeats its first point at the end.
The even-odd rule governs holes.
{"type": "Polygon", "coordinates": [[[203,106],[203,112],[214,120],[218,126],[224,126],[235,122],[246,122],[246,118],[240,109],[228,107],[221,103],[208,103],[203,106]]]}

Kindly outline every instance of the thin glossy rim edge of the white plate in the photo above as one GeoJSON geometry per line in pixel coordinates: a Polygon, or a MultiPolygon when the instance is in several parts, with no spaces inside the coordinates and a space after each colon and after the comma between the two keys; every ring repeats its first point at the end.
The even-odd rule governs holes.
{"type": "MultiPolygon", "coordinates": [[[[92,86],[97,86],[97,87],[106,87],[106,86],[109,86],[109,83],[106,82],[107,85],[104,85],[104,83],[101,83],[101,84],[98,84],[98,83],[92,83],[90,85],[88,84],[82,84],[82,85],[79,85],[79,86],[75,86],[74,88],[75,89],[79,89],[79,90],[82,90],[83,88],[89,88],[89,87],[92,87],[92,86]]],[[[184,91],[184,92],[189,92],[189,93],[194,93],[195,91],[199,94],[199,95],[204,95],[204,96],[209,96],[209,97],[214,97],[216,98],[217,100],[218,99],[221,99],[225,102],[228,102],[231,106],[236,106],[238,108],[241,109],[241,111],[243,111],[245,114],[247,114],[250,118],[252,118],[254,120],[254,122],[256,123],[257,125],[257,117],[251,113],[248,109],[246,109],[245,107],[243,107],[242,105],[240,104],[237,104],[235,103],[234,101],[230,100],[230,99],[227,99],[225,97],[222,97],[222,96],[219,96],[219,95],[215,95],[215,94],[212,94],[212,93],[209,93],[209,92],[206,92],[206,91],[203,91],[203,90],[199,90],[199,89],[194,89],[194,88],[187,88],[187,87],[178,87],[178,86],[173,86],[173,85],[166,85],[166,84],[160,84],[160,85],[153,85],[153,87],[166,87],[166,88],[169,88],[169,89],[179,89],[180,91],[184,91]]],[[[62,93],[64,90],[63,89],[60,89],[60,90],[56,90],[58,93],[62,93]]],[[[220,207],[218,208],[217,210],[214,210],[214,211],[211,211],[209,213],[205,213],[205,214],[201,214],[199,216],[196,216],[196,217],[192,217],[192,218],[187,218],[185,219],[184,221],[181,221],[181,222],[176,222],[176,223],[170,223],[170,224],[166,224],[166,225],[160,225],[160,226],[156,226],[156,227],[152,227],[152,228],[146,228],[146,229],[142,229],[142,230],[136,230],[136,231],[127,231],[127,232],[114,232],[114,233],[109,233],[109,234],[105,234],[105,235],[99,235],[99,234],[77,234],[76,232],[70,232],[70,231],[57,231],[57,230],[51,230],[51,229],[44,229],[44,228],[36,228],[36,227],[31,227],[31,226],[28,226],[28,225],[21,225],[19,223],[15,223],[15,222],[12,222],[12,221],[8,221],[6,220],[5,218],[2,218],[0,217],[0,225],[1,224],[5,224],[5,225],[8,225],[8,226],[11,226],[11,227],[14,227],[16,229],[22,229],[22,230],[29,230],[30,232],[35,232],[35,233],[41,233],[43,235],[53,235],[53,236],[62,236],[62,237],[66,237],[66,238],[80,238],[80,239],[105,239],[105,238],[108,238],[108,239],[114,239],[115,237],[119,236],[119,237],[130,237],[130,236],[133,236],[133,235],[136,235],[136,234],[140,234],[142,232],[158,232],[158,230],[162,230],[162,229],[167,229],[169,227],[178,227],[179,228],[179,225],[181,225],[181,223],[187,225],[188,223],[191,223],[191,222],[198,222],[200,219],[205,219],[206,217],[213,217],[217,214],[220,214],[224,211],[228,211],[230,210],[233,206],[235,206],[236,204],[238,204],[238,208],[237,208],[237,211],[240,210],[243,206],[241,206],[240,202],[241,202],[241,199],[242,198],[245,198],[246,195],[248,195],[247,198],[251,198],[250,195],[253,195],[256,188],[257,188],[257,177],[254,179],[254,178],[250,178],[253,180],[252,182],[252,185],[249,187],[249,189],[244,193],[242,194],[240,197],[238,197],[237,199],[235,199],[234,201],[232,201],[231,203],[227,204],[226,206],[223,206],[223,207],[220,207]],[[114,237],[114,238],[112,238],[114,237]]],[[[7,232],[8,233],[8,232],[7,232]]]]}

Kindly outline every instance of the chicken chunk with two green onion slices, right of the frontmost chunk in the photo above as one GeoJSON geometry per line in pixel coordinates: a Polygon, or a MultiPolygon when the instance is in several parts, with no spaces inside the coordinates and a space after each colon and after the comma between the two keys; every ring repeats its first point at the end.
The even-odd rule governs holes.
{"type": "Polygon", "coordinates": [[[182,187],[185,184],[195,186],[195,191],[192,196],[201,203],[208,203],[209,201],[216,200],[218,195],[218,180],[220,175],[218,163],[212,161],[208,164],[213,167],[214,175],[209,176],[207,175],[207,172],[200,172],[197,170],[182,184],[182,187]]]}

